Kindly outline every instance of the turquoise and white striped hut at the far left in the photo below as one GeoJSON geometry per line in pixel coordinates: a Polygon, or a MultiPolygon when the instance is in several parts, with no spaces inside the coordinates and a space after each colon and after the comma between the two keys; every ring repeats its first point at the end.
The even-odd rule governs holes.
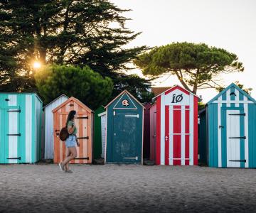
{"type": "Polygon", "coordinates": [[[0,94],[0,163],[41,160],[42,107],[36,93],[0,94]]]}

